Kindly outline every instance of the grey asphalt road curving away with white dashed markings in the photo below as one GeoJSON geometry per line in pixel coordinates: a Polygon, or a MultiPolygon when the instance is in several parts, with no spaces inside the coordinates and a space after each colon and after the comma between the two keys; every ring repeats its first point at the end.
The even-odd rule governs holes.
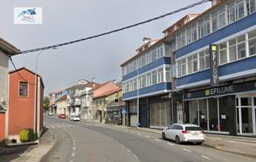
{"type": "Polygon", "coordinates": [[[194,144],[177,145],[158,134],[45,116],[45,126],[58,134],[54,162],[253,162],[245,156],[194,144]]]}

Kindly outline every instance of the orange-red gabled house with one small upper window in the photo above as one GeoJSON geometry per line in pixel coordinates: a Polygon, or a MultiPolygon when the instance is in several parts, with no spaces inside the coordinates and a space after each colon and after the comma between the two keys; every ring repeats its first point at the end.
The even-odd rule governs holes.
{"type": "Polygon", "coordinates": [[[40,137],[43,130],[44,88],[41,76],[25,67],[9,72],[9,121],[7,124],[9,139],[19,139],[20,130],[26,128],[35,129],[40,137]]]}

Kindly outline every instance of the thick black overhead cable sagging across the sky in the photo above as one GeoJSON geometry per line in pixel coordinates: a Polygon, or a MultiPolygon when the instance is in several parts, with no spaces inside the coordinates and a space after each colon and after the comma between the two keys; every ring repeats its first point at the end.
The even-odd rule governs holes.
{"type": "Polygon", "coordinates": [[[176,11],[172,11],[172,12],[169,12],[169,13],[164,14],[164,15],[157,16],[157,17],[152,18],[152,19],[147,19],[147,20],[145,20],[143,22],[140,22],[140,23],[134,23],[132,25],[129,25],[129,26],[126,26],[126,27],[123,27],[123,28],[117,28],[117,29],[109,31],[109,32],[103,32],[103,33],[98,34],[98,35],[88,36],[88,37],[85,37],[85,38],[82,38],[82,39],[79,39],[79,40],[72,40],[72,41],[68,41],[66,43],[62,43],[62,44],[58,44],[58,45],[49,45],[49,46],[45,46],[45,47],[37,48],[37,49],[28,49],[28,50],[24,50],[24,51],[21,51],[19,53],[15,53],[15,54],[32,53],[32,52],[36,52],[36,51],[40,51],[40,50],[44,50],[44,49],[58,48],[58,47],[63,46],[63,45],[75,44],[75,43],[78,43],[78,42],[84,41],[84,40],[91,40],[93,38],[109,35],[109,34],[114,33],[114,32],[120,32],[120,31],[126,30],[128,28],[134,28],[136,26],[142,25],[143,23],[150,23],[151,21],[155,21],[156,19],[162,19],[162,18],[164,18],[168,15],[173,15],[173,14],[176,14],[178,12],[185,11],[187,9],[190,9],[190,8],[194,7],[194,6],[201,5],[205,2],[208,2],[208,0],[202,0],[202,1],[199,1],[199,2],[196,2],[196,3],[193,3],[189,6],[182,7],[180,9],[176,10],[176,11]]]}

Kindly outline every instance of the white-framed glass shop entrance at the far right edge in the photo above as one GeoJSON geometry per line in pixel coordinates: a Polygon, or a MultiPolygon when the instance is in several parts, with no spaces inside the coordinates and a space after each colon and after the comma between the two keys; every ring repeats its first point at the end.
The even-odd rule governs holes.
{"type": "Polygon", "coordinates": [[[237,134],[256,134],[256,94],[237,96],[237,134]]]}

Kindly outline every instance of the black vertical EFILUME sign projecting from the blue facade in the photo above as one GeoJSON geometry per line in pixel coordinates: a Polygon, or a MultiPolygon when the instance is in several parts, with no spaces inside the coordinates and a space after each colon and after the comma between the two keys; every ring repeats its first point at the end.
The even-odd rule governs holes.
{"type": "Polygon", "coordinates": [[[219,85],[219,69],[218,69],[218,49],[217,45],[210,45],[210,66],[211,66],[211,86],[219,85]]]}

